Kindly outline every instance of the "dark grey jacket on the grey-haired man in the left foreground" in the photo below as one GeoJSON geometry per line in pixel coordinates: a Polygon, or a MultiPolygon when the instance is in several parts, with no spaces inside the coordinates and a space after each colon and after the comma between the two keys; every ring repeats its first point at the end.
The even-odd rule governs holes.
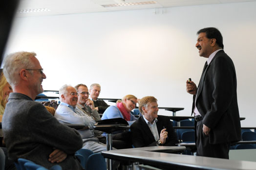
{"type": "Polygon", "coordinates": [[[21,93],[11,93],[2,119],[4,141],[10,159],[24,158],[50,168],[49,154],[56,148],[67,153],[59,163],[63,170],[82,170],[74,158],[83,145],[80,134],[62,125],[46,108],[21,93]]]}

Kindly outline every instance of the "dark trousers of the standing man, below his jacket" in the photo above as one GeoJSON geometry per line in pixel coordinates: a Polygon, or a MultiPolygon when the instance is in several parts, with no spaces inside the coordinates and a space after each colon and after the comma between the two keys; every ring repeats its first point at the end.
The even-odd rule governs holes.
{"type": "Polygon", "coordinates": [[[229,159],[229,143],[210,144],[209,136],[203,133],[203,121],[196,126],[197,156],[229,159]]]}

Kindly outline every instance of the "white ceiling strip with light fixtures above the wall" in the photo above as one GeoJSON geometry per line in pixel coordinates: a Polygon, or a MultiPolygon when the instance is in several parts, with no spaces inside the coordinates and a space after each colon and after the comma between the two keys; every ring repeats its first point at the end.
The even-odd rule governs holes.
{"type": "Polygon", "coordinates": [[[204,5],[204,4],[220,4],[220,3],[235,3],[256,0],[20,0],[19,10],[28,9],[44,9],[49,11],[43,12],[26,12],[17,13],[17,17],[30,16],[47,16],[47,15],[64,15],[77,13],[91,12],[108,12],[122,10],[137,10],[148,8],[167,8],[174,6],[189,6],[189,5],[204,5]],[[118,7],[103,7],[107,4],[132,3],[155,1],[154,4],[118,6],[118,7]]]}

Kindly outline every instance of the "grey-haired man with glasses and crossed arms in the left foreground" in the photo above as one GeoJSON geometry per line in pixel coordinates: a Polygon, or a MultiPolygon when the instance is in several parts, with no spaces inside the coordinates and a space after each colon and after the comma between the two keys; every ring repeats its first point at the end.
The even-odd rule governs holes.
{"type": "Polygon", "coordinates": [[[46,78],[33,52],[17,52],[4,59],[3,73],[12,86],[2,129],[9,159],[28,159],[50,169],[82,170],[74,153],[83,141],[77,130],[60,124],[35,98],[46,78]]]}

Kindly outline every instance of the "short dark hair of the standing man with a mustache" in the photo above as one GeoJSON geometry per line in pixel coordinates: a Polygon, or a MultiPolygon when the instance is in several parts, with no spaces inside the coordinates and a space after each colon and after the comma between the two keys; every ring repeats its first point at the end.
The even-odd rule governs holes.
{"type": "Polygon", "coordinates": [[[219,30],[217,28],[208,27],[208,28],[200,29],[199,31],[197,31],[197,35],[199,35],[202,32],[204,32],[206,34],[206,37],[208,39],[216,39],[216,44],[218,44],[219,47],[224,49],[223,38],[222,38],[222,35],[221,35],[221,33],[219,32],[219,30]]]}

